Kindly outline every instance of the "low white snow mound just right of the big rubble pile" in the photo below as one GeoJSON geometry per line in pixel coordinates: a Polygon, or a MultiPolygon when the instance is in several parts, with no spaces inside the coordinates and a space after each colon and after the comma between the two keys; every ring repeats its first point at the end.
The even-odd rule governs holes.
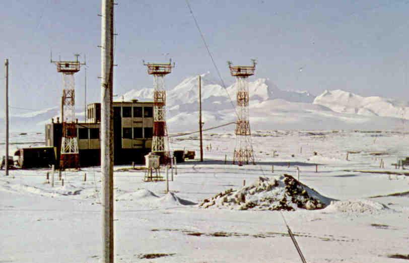
{"type": "Polygon", "coordinates": [[[342,212],[348,214],[376,214],[390,210],[387,206],[367,199],[333,201],[325,209],[330,212],[342,212]]]}

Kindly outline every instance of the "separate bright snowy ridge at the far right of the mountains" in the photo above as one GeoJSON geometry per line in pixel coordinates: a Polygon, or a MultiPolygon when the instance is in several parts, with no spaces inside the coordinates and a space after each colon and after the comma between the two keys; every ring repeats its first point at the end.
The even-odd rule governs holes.
{"type": "Polygon", "coordinates": [[[313,104],[323,105],[341,113],[409,119],[409,102],[382,97],[362,97],[343,90],[326,90],[315,98],[313,104]]]}

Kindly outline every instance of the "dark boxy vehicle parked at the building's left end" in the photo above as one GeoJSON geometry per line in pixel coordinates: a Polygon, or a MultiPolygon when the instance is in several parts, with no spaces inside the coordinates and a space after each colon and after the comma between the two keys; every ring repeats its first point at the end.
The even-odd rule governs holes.
{"type": "Polygon", "coordinates": [[[55,147],[21,148],[14,156],[17,156],[17,164],[21,168],[49,167],[56,164],[55,151],[55,147]]]}

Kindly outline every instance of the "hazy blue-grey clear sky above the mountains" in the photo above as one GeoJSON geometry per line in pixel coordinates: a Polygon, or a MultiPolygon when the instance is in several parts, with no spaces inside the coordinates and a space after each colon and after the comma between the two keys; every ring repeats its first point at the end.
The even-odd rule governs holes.
{"type": "MultiPolygon", "coordinates": [[[[215,67],[186,0],[117,0],[114,94],[153,86],[142,60],[176,63],[167,88],[215,67]]],[[[409,1],[189,0],[227,85],[226,61],[258,60],[251,79],[280,89],[343,89],[362,96],[407,99],[409,1]]],[[[86,57],[87,103],[100,100],[101,3],[14,0],[2,5],[0,53],[10,63],[10,112],[58,107],[62,78],[53,59],[86,57]]],[[[85,67],[76,77],[76,105],[85,105],[85,67]]],[[[4,112],[2,74],[0,112],[4,112]]],[[[250,80],[251,80],[250,79],[250,80]]],[[[4,114],[4,113],[3,113],[4,114]]],[[[2,114],[2,115],[3,115],[2,114]]]]}

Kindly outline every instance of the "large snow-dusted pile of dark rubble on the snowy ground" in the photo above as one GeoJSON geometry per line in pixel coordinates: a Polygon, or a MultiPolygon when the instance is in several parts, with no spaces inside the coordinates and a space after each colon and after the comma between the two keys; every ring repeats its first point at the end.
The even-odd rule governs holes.
{"type": "Polygon", "coordinates": [[[238,210],[287,210],[325,208],[331,199],[300,183],[291,175],[280,178],[259,177],[240,190],[228,189],[204,200],[199,207],[238,210]]]}

